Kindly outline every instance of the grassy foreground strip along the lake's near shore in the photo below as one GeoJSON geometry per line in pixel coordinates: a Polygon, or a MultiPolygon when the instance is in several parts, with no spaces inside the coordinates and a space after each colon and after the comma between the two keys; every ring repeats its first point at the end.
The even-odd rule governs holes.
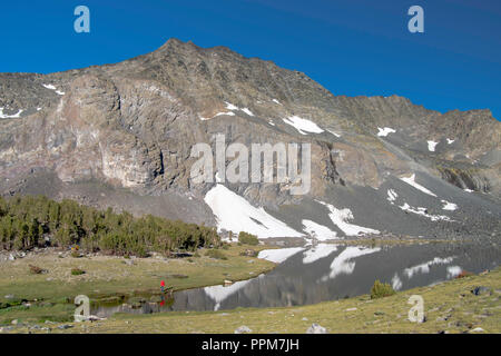
{"type": "MultiPolygon", "coordinates": [[[[242,325],[254,333],[305,333],[317,323],[328,333],[464,333],[481,327],[501,333],[501,269],[431,287],[414,288],[380,299],[369,295],[302,307],[235,309],[204,313],[116,315],[98,323],[75,324],[56,333],[233,333],[242,325]],[[491,295],[470,290],[485,286],[491,295]],[[411,323],[411,295],[424,299],[425,323],[411,323]],[[446,318],[446,319],[445,319],[446,318]]],[[[23,332],[19,329],[18,332],[23,332]]],[[[26,332],[26,330],[24,330],[26,332]]]]}

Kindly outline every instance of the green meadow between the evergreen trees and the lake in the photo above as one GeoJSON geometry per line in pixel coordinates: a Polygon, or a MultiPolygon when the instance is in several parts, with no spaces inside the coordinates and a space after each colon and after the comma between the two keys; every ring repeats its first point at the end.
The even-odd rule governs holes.
{"type": "MultiPolygon", "coordinates": [[[[256,249],[264,249],[258,246],[256,249]]],[[[239,256],[244,247],[232,245],[224,251],[226,260],[205,256],[188,261],[186,258],[136,258],[132,265],[115,256],[59,258],[56,253],[29,254],[22,259],[0,263],[0,324],[12,319],[37,322],[47,318],[71,320],[77,295],[87,295],[91,301],[135,294],[158,293],[160,280],[174,290],[223,284],[225,279],[242,280],[255,277],[275,267],[275,264],[239,256]],[[253,264],[247,263],[254,260],[253,264]],[[47,270],[31,274],[29,265],[47,270]],[[72,275],[71,270],[85,270],[72,275]],[[13,295],[14,299],[6,298],[13,295]],[[31,307],[12,306],[28,300],[31,307]],[[43,306],[40,304],[43,303],[43,306]]]]}

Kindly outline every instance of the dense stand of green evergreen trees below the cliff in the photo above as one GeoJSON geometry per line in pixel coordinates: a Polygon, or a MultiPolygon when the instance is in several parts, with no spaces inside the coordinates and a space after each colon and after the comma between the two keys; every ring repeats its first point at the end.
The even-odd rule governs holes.
{"type": "Polygon", "coordinates": [[[48,245],[79,245],[88,251],[144,257],[148,251],[219,246],[220,238],[215,228],[151,215],[135,218],[127,211],[101,211],[43,196],[0,197],[0,249],[29,250],[48,245]]]}

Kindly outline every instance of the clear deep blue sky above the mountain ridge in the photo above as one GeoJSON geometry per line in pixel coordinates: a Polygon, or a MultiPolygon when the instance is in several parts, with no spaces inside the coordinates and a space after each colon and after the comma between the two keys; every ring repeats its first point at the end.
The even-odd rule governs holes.
{"type": "Polygon", "coordinates": [[[273,60],[334,95],[396,93],[501,119],[500,0],[3,1],[0,71],[117,62],[171,37],[273,60]],[[90,33],[73,31],[79,4],[90,9],[90,33]],[[407,31],[413,4],[424,9],[424,33],[407,31]]]}

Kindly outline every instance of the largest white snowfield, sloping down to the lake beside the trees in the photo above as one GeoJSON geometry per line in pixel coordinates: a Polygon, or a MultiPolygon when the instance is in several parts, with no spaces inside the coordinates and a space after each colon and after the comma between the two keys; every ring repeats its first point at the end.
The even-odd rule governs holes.
{"type": "Polygon", "coordinates": [[[220,184],[207,191],[204,200],[216,217],[218,231],[245,231],[258,238],[304,236],[220,184]]]}

